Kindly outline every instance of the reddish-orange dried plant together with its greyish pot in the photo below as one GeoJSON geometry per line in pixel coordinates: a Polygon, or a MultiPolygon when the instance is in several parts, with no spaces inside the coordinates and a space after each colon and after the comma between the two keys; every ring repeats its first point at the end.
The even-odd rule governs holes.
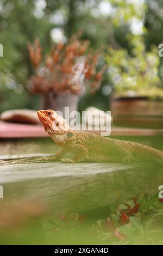
{"type": "Polygon", "coordinates": [[[42,57],[39,39],[34,46],[28,44],[34,75],[27,87],[32,93],[42,94],[42,108],[54,109],[64,114],[65,106],[77,110],[79,96],[86,90],[95,92],[101,85],[104,69],[96,72],[99,53],[86,55],[89,41],[78,36],[66,44],[52,47],[51,53],[42,57]]]}

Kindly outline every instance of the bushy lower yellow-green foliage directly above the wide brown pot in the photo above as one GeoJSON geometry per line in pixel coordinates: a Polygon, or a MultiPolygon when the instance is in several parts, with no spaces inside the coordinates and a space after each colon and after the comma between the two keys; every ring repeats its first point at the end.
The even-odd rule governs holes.
{"type": "MultiPolygon", "coordinates": [[[[129,36],[130,38],[130,36],[129,36]]],[[[131,55],[127,50],[108,48],[106,60],[109,65],[108,74],[118,96],[148,96],[150,99],[163,99],[161,80],[158,76],[158,49],[152,47],[146,51],[142,36],[132,36],[131,55]]]]}

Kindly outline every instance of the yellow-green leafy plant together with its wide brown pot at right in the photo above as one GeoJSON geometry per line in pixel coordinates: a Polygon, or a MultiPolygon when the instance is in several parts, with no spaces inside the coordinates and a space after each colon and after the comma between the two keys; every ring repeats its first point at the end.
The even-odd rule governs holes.
{"type": "Polygon", "coordinates": [[[133,36],[133,48],[109,48],[108,75],[114,87],[111,114],[115,125],[163,127],[163,89],[158,76],[157,49],[146,51],[141,36],[133,36]]]}

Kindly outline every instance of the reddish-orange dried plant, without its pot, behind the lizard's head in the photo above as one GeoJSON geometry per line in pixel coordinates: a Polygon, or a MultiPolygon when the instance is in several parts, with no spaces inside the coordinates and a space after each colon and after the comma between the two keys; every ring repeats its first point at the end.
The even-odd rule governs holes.
{"type": "MultiPolygon", "coordinates": [[[[55,94],[68,92],[82,94],[84,86],[91,85],[91,92],[95,93],[99,88],[104,69],[96,72],[99,54],[85,52],[89,46],[89,41],[79,41],[78,35],[72,36],[70,41],[58,44],[52,48],[51,54],[42,60],[42,48],[39,39],[35,40],[34,47],[28,44],[30,59],[35,68],[35,75],[30,77],[33,93],[46,93],[49,91],[55,94]],[[40,75],[40,68],[48,70],[40,75]]],[[[30,87],[28,87],[30,89],[30,87]]]]}

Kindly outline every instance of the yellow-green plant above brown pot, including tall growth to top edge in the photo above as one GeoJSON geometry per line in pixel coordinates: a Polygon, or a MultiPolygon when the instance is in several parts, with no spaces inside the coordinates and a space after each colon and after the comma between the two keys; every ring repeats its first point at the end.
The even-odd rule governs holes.
{"type": "MultiPolygon", "coordinates": [[[[119,1],[112,2],[118,4],[119,1]]],[[[148,96],[151,99],[163,99],[162,82],[158,75],[160,66],[158,48],[152,45],[147,51],[145,44],[144,35],[148,34],[148,31],[143,19],[148,11],[147,5],[143,1],[140,4],[139,1],[135,4],[133,2],[129,1],[128,8],[125,8],[126,1],[122,1],[121,8],[116,9],[115,17],[118,18],[114,18],[112,23],[121,26],[123,22],[128,24],[131,22],[131,31],[124,36],[128,47],[122,48],[121,45],[117,48],[108,47],[106,56],[109,65],[108,75],[118,96],[148,96]]]]}

